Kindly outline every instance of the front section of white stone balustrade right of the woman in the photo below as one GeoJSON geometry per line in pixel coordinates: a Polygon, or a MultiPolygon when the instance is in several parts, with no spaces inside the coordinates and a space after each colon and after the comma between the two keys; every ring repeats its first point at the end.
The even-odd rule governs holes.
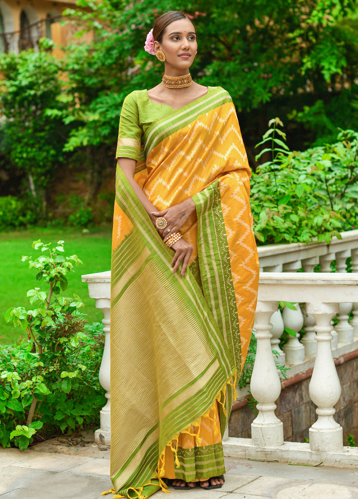
{"type": "Polygon", "coordinates": [[[252,439],[230,437],[224,443],[227,456],[312,465],[358,466],[358,449],[343,448],[342,427],[334,420],[334,405],[340,398],[341,387],[330,348],[331,319],[338,311],[337,302],[355,301],[358,298],[357,286],[358,274],[260,275],[255,321],[257,355],[260,358],[255,361],[251,383],[259,415],[252,423],[252,439]],[[266,342],[271,336],[267,316],[275,310],[276,303],[283,300],[306,303],[307,313],[316,322],[317,355],[309,394],[317,405],[318,419],[309,430],[309,444],[283,442],[282,428],[274,414],[279,375],[274,363],[267,359],[266,342]],[[262,355],[266,356],[265,360],[262,355]],[[256,386],[258,384],[259,387],[256,386]]]}

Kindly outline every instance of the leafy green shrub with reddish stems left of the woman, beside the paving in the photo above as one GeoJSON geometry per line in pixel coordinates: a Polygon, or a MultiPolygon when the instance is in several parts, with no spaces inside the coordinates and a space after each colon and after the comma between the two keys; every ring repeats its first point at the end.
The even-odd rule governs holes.
{"type": "Polygon", "coordinates": [[[102,326],[85,327],[78,296],[60,297],[67,275],[81,261],[64,256],[63,241],[55,247],[34,241],[41,255],[29,261],[38,270],[30,289],[31,310],[10,308],[7,322],[28,333],[28,341],[0,350],[0,443],[25,449],[39,435],[48,437],[98,420],[105,403],[98,381],[102,357],[102,326]],[[35,435],[36,434],[36,435],[35,435]]]}

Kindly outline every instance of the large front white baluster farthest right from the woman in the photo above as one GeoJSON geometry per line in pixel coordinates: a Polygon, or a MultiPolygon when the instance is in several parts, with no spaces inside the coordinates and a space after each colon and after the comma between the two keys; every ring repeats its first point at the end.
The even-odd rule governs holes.
{"type": "Polygon", "coordinates": [[[309,429],[312,451],[330,452],[343,449],[343,430],[334,420],[334,405],[341,396],[341,384],[331,352],[331,320],[338,311],[332,303],[308,303],[307,312],[316,320],[317,355],[309,383],[309,395],[317,405],[317,421],[309,429]]]}

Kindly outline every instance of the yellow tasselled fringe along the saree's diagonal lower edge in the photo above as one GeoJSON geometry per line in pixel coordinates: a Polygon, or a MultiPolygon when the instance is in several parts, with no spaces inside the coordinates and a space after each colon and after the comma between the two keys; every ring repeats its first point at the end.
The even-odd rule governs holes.
{"type": "MultiPolygon", "coordinates": [[[[222,389],[219,391],[219,393],[217,394],[217,396],[216,396],[216,398],[214,400],[214,402],[217,401],[222,406],[222,411],[225,414],[225,416],[228,415],[228,412],[227,412],[227,410],[225,408],[226,393],[227,393],[227,386],[226,385],[230,384],[230,386],[233,387],[233,389],[234,389],[233,398],[234,398],[234,400],[236,400],[236,398],[237,398],[236,378],[237,378],[237,372],[235,371],[233,373],[233,375],[230,376],[229,380],[225,383],[225,385],[222,387],[222,389]],[[223,398],[222,401],[221,401],[221,398],[223,398]]],[[[204,414],[202,414],[202,416],[200,416],[199,418],[195,419],[195,421],[193,421],[192,423],[190,423],[189,426],[187,426],[186,428],[184,428],[181,432],[177,433],[171,439],[171,441],[165,445],[164,449],[161,452],[160,458],[158,460],[158,471],[157,471],[159,483],[160,483],[160,485],[162,487],[162,490],[163,490],[162,483],[164,483],[163,480],[162,480],[162,477],[164,477],[164,473],[165,473],[165,471],[164,471],[165,449],[167,447],[170,447],[170,449],[174,452],[175,466],[177,468],[180,468],[180,462],[178,460],[178,438],[179,438],[179,435],[181,433],[187,433],[191,437],[195,438],[195,443],[200,444],[202,442],[202,439],[199,437],[199,433],[200,433],[200,420],[203,417],[205,417],[205,418],[210,419],[210,421],[215,422],[215,419],[210,417],[210,412],[211,412],[211,406],[209,407],[209,409],[204,414]],[[194,430],[195,426],[198,428],[196,432],[194,430]],[[175,447],[174,447],[174,442],[175,442],[175,447]]],[[[218,429],[215,426],[215,435],[217,435],[217,434],[218,434],[218,429]]],[[[165,488],[167,488],[167,486],[165,486],[165,488]]],[[[169,492],[169,490],[163,490],[163,492],[169,492]]],[[[142,499],[142,498],[139,497],[138,499],[142,499]]]]}

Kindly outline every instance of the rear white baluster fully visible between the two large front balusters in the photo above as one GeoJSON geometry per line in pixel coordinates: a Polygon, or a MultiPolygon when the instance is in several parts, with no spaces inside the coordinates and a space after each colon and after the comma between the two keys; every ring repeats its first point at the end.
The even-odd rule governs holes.
{"type": "Polygon", "coordinates": [[[298,364],[298,362],[303,362],[305,357],[304,346],[299,342],[299,331],[303,326],[303,315],[300,305],[298,303],[294,303],[293,305],[296,310],[284,307],[282,312],[285,327],[292,329],[296,333],[296,336],[289,335],[286,345],[282,347],[286,355],[287,364],[298,364]]]}

